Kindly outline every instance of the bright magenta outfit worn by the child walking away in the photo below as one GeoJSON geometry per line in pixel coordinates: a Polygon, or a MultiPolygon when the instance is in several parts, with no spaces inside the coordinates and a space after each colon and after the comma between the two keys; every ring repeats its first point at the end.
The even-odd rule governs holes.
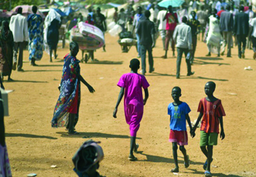
{"type": "Polygon", "coordinates": [[[121,76],[118,86],[125,88],[125,119],[130,125],[130,135],[136,136],[143,115],[142,88],[147,89],[149,84],[144,75],[127,73],[121,76]]]}

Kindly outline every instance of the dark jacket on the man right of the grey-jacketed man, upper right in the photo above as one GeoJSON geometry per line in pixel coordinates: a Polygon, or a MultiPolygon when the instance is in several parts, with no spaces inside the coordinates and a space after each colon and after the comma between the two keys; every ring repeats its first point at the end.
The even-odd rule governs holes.
{"type": "Polygon", "coordinates": [[[249,28],[249,16],[244,12],[238,12],[235,15],[234,30],[236,35],[247,35],[249,28]]]}

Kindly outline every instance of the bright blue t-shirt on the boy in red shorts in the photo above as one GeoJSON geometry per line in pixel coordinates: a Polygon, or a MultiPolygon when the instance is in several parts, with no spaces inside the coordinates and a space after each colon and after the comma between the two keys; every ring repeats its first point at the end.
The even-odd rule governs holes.
{"type": "Polygon", "coordinates": [[[170,129],[177,131],[186,131],[186,114],[191,110],[186,102],[180,105],[168,105],[168,115],[170,115],[170,129]]]}

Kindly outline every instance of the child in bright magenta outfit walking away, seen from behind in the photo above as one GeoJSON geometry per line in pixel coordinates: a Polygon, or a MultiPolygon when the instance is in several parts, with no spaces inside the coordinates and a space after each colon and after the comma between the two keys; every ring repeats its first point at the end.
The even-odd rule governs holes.
{"type": "Polygon", "coordinates": [[[148,99],[148,82],[144,75],[139,75],[138,68],[140,62],[137,58],[131,59],[130,68],[131,72],[121,76],[118,86],[121,87],[121,91],[118,96],[118,102],[115,106],[113,117],[117,118],[118,105],[121,102],[125,94],[124,108],[125,119],[130,126],[131,135],[131,148],[129,160],[135,161],[137,158],[133,155],[133,151],[137,152],[138,144],[136,144],[136,134],[140,126],[143,115],[143,107],[148,99]],[[145,92],[145,99],[143,99],[142,88],[145,92]]]}

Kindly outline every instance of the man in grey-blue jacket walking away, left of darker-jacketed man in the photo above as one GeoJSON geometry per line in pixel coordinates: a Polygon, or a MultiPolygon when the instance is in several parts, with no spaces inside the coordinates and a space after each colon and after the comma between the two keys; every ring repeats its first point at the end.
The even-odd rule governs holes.
{"type": "MultiPolygon", "coordinates": [[[[226,11],[222,12],[220,15],[220,32],[222,32],[223,34],[225,46],[227,45],[227,57],[231,57],[233,28],[234,28],[233,14],[230,13],[230,5],[227,5],[226,11]]],[[[221,55],[224,55],[224,52],[222,52],[221,55]]]]}

